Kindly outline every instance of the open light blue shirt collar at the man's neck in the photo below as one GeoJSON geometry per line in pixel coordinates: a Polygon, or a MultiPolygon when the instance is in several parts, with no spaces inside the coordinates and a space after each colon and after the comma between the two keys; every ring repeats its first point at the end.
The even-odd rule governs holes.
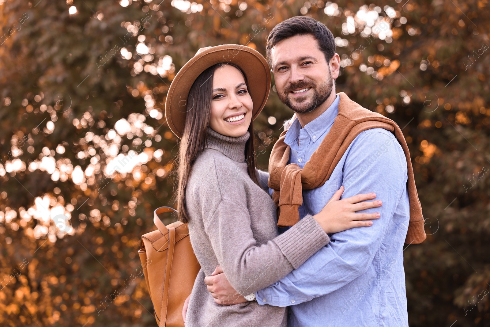
{"type": "Polygon", "coordinates": [[[339,113],[339,100],[340,97],[337,95],[327,110],[306,124],[303,128],[301,128],[298,119],[295,118],[293,124],[291,124],[286,132],[284,143],[289,145],[292,149],[296,148],[300,130],[305,130],[313,143],[317,142],[320,136],[333,125],[335,117],[337,117],[337,114],[339,113]]]}

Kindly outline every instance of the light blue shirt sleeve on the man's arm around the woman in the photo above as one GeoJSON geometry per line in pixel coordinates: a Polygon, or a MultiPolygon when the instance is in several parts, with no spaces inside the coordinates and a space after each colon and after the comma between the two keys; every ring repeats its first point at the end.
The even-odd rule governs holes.
{"type": "MultiPolygon", "coordinates": [[[[257,291],[259,304],[287,306],[307,302],[343,287],[367,271],[407,182],[407,162],[396,138],[390,132],[374,130],[362,132],[352,142],[343,166],[342,198],[374,192],[383,205],[357,213],[379,212],[381,217],[373,220],[372,226],[331,235],[331,242],[298,269],[257,291]]],[[[326,203],[329,199],[323,200],[326,203]]]]}

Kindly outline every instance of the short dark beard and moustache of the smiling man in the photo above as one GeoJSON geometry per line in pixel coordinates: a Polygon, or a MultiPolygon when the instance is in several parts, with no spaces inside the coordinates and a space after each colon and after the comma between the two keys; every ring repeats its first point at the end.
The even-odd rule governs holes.
{"type": "Polygon", "coordinates": [[[328,80],[325,83],[322,83],[319,87],[317,87],[317,84],[312,80],[302,80],[295,84],[289,84],[284,89],[284,93],[277,92],[279,100],[281,100],[282,103],[286,104],[297,113],[307,113],[313,111],[314,109],[318,108],[323,102],[325,102],[332,94],[334,81],[330,72],[330,67],[329,73],[330,74],[328,80]],[[308,87],[311,87],[313,91],[312,100],[308,104],[302,104],[303,101],[308,99],[307,96],[299,97],[293,101],[290,99],[289,93],[291,91],[308,87]]]}

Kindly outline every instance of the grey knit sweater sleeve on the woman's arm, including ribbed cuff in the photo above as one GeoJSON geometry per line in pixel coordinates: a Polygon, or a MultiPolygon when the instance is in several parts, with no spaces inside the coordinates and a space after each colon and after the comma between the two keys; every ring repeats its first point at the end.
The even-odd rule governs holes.
{"type": "Polygon", "coordinates": [[[309,215],[288,233],[257,244],[245,188],[236,176],[224,178],[234,179],[223,180],[226,189],[221,189],[221,201],[214,212],[206,215],[204,229],[226,278],[239,294],[248,295],[285,277],[329,242],[309,215]]]}

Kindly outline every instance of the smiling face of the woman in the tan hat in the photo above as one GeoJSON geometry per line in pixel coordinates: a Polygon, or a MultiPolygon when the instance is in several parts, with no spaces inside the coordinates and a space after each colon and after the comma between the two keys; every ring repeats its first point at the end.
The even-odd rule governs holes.
{"type": "Polygon", "coordinates": [[[252,120],[253,103],[242,73],[223,65],[213,75],[209,127],[222,135],[242,136],[252,120]]]}

